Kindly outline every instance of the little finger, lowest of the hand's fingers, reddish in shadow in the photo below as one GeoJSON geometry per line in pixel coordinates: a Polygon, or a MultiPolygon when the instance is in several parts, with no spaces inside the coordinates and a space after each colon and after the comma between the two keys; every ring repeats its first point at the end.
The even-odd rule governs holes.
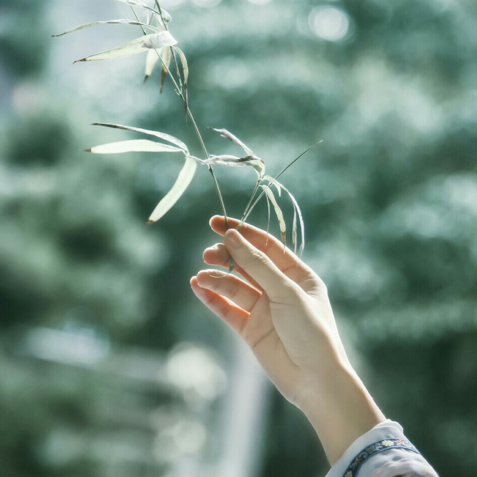
{"type": "MultiPolygon", "coordinates": [[[[223,280],[223,279],[215,279],[223,280]]],[[[197,283],[197,277],[190,279],[190,286],[195,296],[225,321],[236,333],[240,334],[243,325],[247,321],[248,313],[237,305],[230,303],[223,296],[205,288],[201,288],[197,283]]]]}

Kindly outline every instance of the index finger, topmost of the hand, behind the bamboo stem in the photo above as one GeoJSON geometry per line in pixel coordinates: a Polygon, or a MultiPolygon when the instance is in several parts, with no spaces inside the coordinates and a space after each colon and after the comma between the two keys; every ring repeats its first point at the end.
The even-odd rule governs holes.
{"type": "MultiPolygon", "coordinates": [[[[229,222],[229,227],[231,228],[236,228],[240,223],[239,220],[232,219],[230,217],[227,217],[227,220],[229,222]]],[[[224,216],[216,215],[212,217],[209,223],[214,232],[222,236],[225,235],[226,226],[224,216]]],[[[268,235],[267,240],[267,235],[264,230],[244,223],[238,232],[255,248],[268,255],[271,261],[274,262],[280,270],[286,271],[290,268],[296,267],[296,275],[299,276],[299,280],[303,280],[308,276],[314,275],[313,270],[311,270],[308,265],[306,265],[299,257],[297,257],[288,247],[286,247],[284,253],[283,243],[277,238],[273,237],[272,235],[268,235]]]]}

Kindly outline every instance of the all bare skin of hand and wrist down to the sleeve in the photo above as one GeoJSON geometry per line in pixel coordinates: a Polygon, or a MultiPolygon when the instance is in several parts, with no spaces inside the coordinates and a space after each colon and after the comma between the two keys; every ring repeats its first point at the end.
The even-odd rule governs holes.
{"type": "Polygon", "coordinates": [[[241,276],[200,270],[190,280],[197,298],[251,348],[283,396],[314,427],[333,465],[361,435],[386,420],[351,366],[326,286],[288,247],[266,232],[223,216],[210,221],[224,237],[203,252],[209,265],[241,276]]]}

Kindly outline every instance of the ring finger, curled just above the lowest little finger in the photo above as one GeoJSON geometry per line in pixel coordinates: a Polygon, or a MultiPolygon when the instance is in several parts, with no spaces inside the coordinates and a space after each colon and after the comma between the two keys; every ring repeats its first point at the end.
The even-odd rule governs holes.
{"type": "Polygon", "coordinates": [[[261,293],[238,277],[226,275],[220,270],[200,270],[197,274],[197,283],[201,288],[212,290],[232,300],[250,313],[261,293]]]}

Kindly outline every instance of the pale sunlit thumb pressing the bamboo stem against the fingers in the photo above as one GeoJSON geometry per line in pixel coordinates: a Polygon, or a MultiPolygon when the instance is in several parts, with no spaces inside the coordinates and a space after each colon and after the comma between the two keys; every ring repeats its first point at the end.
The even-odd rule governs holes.
{"type": "Polygon", "coordinates": [[[224,244],[232,258],[263,288],[270,301],[288,302],[296,296],[297,285],[235,229],[227,230],[224,244]]]}

